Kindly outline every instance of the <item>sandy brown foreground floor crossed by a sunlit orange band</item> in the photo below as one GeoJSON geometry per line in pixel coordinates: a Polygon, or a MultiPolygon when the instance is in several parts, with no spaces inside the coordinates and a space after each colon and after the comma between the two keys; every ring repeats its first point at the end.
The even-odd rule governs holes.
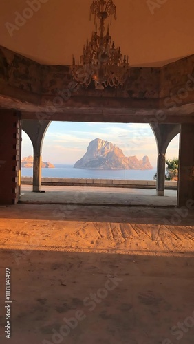
{"type": "Polygon", "coordinates": [[[11,267],[10,343],[193,344],[194,215],[177,212],[0,206],[1,343],[11,267]]]}

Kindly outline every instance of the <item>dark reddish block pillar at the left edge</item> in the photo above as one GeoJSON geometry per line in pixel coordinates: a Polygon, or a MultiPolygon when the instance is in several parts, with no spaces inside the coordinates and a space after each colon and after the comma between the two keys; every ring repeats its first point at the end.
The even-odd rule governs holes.
{"type": "Polygon", "coordinates": [[[21,120],[16,111],[0,111],[0,204],[19,201],[21,120]]]}

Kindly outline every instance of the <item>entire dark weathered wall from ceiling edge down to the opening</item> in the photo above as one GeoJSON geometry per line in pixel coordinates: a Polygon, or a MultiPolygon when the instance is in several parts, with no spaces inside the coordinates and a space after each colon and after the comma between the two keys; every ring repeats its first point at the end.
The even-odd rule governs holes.
{"type": "Polygon", "coordinates": [[[91,84],[87,89],[80,87],[78,92],[70,89],[64,101],[63,92],[66,89],[68,93],[72,80],[67,65],[39,65],[0,46],[0,109],[17,109],[22,116],[34,114],[32,119],[36,119],[37,112],[54,113],[52,120],[69,120],[68,116],[71,120],[75,115],[72,120],[83,121],[89,114],[92,121],[91,114],[96,114],[97,120],[101,115],[113,115],[100,118],[104,122],[144,122],[144,118],[151,122],[162,109],[165,118],[159,122],[193,122],[193,65],[194,55],[162,68],[133,67],[123,89],[107,87],[98,91],[91,84]],[[59,104],[56,96],[61,98],[59,104]],[[124,118],[116,119],[122,114],[124,118]]]}

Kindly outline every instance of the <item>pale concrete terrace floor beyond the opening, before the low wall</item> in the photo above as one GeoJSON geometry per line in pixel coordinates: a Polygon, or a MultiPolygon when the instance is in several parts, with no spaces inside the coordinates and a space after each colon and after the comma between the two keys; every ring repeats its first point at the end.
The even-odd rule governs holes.
{"type": "Polygon", "coordinates": [[[164,197],[155,189],[125,189],[78,186],[42,186],[45,193],[32,193],[32,186],[21,186],[20,201],[27,204],[85,204],[122,206],[176,206],[177,191],[166,190],[164,197]]]}

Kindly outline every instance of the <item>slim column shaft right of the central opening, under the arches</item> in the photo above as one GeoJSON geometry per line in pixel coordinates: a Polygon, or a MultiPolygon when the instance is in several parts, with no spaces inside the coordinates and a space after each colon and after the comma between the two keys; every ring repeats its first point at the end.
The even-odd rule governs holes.
{"type": "Polygon", "coordinates": [[[157,183],[156,183],[157,185],[156,192],[158,196],[164,196],[165,171],[166,171],[166,153],[158,153],[157,183]]]}

